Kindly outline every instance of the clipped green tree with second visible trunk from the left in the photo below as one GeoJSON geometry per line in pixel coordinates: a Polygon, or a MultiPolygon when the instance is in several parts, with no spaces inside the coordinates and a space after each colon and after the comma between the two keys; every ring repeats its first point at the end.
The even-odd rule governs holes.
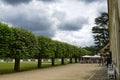
{"type": "Polygon", "coordinates": [[[36,54],[36,57],[38,58],[38,68],[40,68],[42,64],[41,59],[51,57],[51,39],[45,36],[38,36],[37,39],[39,52],[36,54]]]}

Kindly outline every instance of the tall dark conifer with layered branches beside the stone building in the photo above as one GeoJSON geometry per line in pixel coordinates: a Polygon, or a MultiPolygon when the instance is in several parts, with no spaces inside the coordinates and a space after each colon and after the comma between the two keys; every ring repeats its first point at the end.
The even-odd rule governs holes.
{"type": "Polygon", "coordinates": [[[92,33],[97,50],[101,49],[109,42],[108,20],[108,14],[105,12],[95,18],[96,26],[92,28],[92,33]]]}

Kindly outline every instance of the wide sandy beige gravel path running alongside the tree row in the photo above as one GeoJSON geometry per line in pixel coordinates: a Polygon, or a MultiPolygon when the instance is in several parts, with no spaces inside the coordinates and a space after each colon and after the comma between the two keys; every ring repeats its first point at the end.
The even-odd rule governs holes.
{"type": "Polygon", "coordinates": [[[97,64],[68,64],[51,68],[0,75],[0,80],[88,80],[97,64]]]}

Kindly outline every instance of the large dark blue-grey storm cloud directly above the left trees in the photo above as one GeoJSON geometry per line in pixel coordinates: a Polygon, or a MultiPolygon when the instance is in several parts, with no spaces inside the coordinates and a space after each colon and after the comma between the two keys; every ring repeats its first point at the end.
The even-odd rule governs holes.
{"type": "Polygon", "coordinates": [[[34,32],[37,35],[53,37],[55,31],[53,23],[47,16],[39,16],[32,13],[30,16],[26,13],[17,13],[15,15],[4,14],[2,21],[34,32]]]}

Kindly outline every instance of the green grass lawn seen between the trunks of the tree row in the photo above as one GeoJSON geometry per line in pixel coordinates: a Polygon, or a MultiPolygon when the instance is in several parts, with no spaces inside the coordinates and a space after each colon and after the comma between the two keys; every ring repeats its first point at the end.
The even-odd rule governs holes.
{"type": "MultiPolygon", "coordinates": [[[[65,62],[67,64],[67,62],[65,62]]],[[[60,65],[60,62],[55,62],[55,66],[60,65]]],[[[42,68],[50,67],[51,62],[42,63],[42,68]]],[[[20,71],[37,69],[37,62],[21,62],[20,71]]],[[[12,73],[14,72],[13,62],[0,62],[0,74],[12,73]]]]}

